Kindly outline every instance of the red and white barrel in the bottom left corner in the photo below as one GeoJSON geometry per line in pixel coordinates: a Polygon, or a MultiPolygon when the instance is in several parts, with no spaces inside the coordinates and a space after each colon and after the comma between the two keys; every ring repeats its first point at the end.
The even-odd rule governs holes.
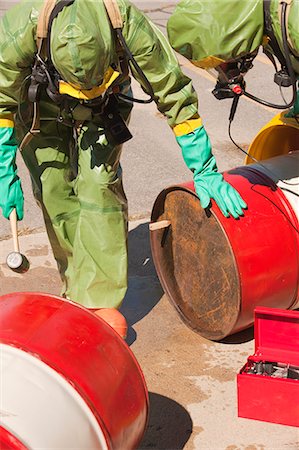
{"type": "Polygon", "coordinates": [[[102,319],[40,293],[0,297],[0,444],[135,449],[148,416],[142,371],[102,319]]]}

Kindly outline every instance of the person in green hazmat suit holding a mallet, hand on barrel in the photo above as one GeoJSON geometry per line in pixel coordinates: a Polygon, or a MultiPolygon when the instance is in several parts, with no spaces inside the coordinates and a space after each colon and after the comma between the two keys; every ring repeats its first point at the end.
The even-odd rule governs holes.
{"type": "MultiPolygon", "coordinates": [[[[122,36],[135,61],[131,72],[146,92],[152,89],[167,117],[203,208],[215,199],[224,215],[238,218],[246,204],[217,171],[191,80],[159,29],[127,0],[117,3],[122,36]]],[[[5,218],[16,209],[22,220],[16,167],[22,142],[62,295],[89,308],[118,308],[127,289],[127,200],[120,165],[132,109],[127,55],[102,0],[56,2],[46,50],[40,51],[43,5],[23,0],[0,23],[0,206],[5,218]]]]}

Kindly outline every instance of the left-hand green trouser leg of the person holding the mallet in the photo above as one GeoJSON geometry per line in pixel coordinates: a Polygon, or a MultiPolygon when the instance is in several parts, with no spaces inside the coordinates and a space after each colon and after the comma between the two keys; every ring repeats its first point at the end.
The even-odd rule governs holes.
{"type": "MultiPolygon", "coordinates": [[[[18,138],[24,130],[17,126],[18,138]]],[[[61,295],[69,290],[73,273],[73,244],[80,204],[69,179],[71,129],[54,120],[42,120],[41,131],[23,149],[34,197],[40,206],[54,258],[63,282],[61,295]]]]}

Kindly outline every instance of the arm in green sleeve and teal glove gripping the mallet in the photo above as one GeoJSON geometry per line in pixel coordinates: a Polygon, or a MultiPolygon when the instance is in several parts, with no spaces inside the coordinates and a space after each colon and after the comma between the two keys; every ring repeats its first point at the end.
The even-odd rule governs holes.
{"type": "Polygon", "coordinates": [[[23,218],[24,197],[16,167],[14,113],[31,73],[38,14],[28,3],[12,8],[0,21],[0,207],[7,219],[16,209],[18,220],[23,218]]]}

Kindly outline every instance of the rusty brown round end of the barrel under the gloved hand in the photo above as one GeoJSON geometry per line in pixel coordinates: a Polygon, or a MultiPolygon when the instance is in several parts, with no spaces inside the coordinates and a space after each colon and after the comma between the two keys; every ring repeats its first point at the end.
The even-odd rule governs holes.
{"type": "Polygon", "coordinates": [[[213,208],[207,213],[190,187],[171,186],[158,195],[150,226],[152,255],[183,321],[205,338],[220,340],[231,334],[239,315],[239,274],[213,208]]]}

